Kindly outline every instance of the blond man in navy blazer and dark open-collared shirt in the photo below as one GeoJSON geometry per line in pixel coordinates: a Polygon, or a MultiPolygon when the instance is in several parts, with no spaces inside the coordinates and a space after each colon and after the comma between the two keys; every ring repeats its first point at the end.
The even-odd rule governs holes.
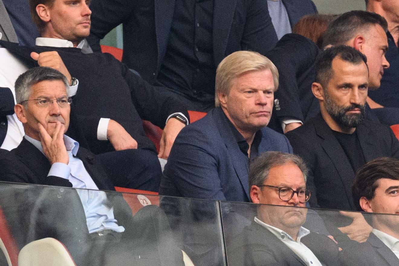
{"type": "Polygon", "coordinates": [[[249,202],[251,160],[271,150],[292,153],[286,137],[266,127],[278,81],[275,65],[259,53],[237,51],[223,59],[217,107],[176,138],[160,194],[249,202]]]}

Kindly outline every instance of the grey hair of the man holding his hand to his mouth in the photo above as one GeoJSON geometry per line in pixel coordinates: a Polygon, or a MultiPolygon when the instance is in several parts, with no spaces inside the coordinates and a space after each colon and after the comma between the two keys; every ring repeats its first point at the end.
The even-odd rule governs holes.
{"type": "Polygon", "coordinates": [[[69,84],[67,78],[59,71],[50,67],[34,67],[22,73],[15,81],[15,98],[21,104],[28,100],[32,94],[32,86],[40,81],[59,80],[65,85],[67,96],[69,96],[69,84]]]}

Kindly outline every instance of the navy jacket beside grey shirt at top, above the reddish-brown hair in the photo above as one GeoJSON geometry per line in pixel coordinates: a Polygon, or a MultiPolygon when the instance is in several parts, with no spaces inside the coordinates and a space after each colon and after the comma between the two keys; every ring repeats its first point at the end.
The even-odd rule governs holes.
{"type": "Polygon", "coordinates": [[[317,8],[312,0],[282,0],[287,10],[291,28],[293,28],[300,18],[307,14],[317,13],[317,8]]]}

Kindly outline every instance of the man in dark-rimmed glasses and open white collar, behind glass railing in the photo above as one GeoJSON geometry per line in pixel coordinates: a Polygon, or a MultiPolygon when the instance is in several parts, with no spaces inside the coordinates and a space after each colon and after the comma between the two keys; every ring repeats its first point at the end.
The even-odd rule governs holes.
{"type": "Polygon", "coordinates": [[[306,220],[308,169],[298,156],[266,152],[251,164],[249,189],[257,217],[227,245],[229,265],[332,266],[338,246],[302,227],[306,220]],[[270,206],[282,205],[282,206],[270,206]]]}

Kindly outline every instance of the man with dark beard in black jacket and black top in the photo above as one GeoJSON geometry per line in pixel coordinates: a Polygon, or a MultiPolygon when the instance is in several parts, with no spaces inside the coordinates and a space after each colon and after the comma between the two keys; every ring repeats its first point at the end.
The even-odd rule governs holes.
{"type": "Polygon", "coordinates": [[[354,173],[375,158],[399,158],[392,130],[364,120],[368,85],[366,58],[352,47],[326,49],[316,60],[312,92],[320,113],[286,135],[310,169],[311,207],[356,210],[354,173]]]}

